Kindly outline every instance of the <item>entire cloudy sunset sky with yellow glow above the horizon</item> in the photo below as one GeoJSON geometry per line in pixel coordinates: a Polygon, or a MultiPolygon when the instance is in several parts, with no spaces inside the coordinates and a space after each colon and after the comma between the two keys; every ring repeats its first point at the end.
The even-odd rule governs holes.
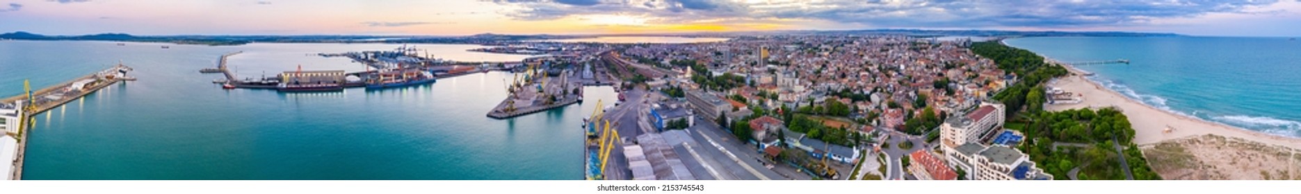
{"type": "Polygon", "coordinates": [[[0,0],[52,35],[1062,30],[1301,36],[1298,0],[0,0]]]}

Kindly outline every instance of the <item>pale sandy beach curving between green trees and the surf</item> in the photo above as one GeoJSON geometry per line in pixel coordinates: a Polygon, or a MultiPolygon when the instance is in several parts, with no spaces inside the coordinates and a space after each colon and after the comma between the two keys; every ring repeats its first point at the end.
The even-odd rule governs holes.
{"type": "Polygon", "coordinates": [[[1102,84],[1085,78],[1088,71],[1076,69],[1072,65],[1062,63],[1042,54],[1039,56],[1049,61],[1049,63],[1060,65],[1071,72],[1071,75],[1064,78],[1055,78],[1053,83],[1047,84],[1047,87],[1060,88],[1084,98],[1080,103],[1045,105],[1045,110],[1059,111],[1082,107],[1118,107],[1125,114],[1125,116],[1129,118],[1129,123],[1134,129],[1133,141],[1137,145],[1157,144],[1201,135],[1219,135],[1268,145],[1301,149],[1301,138],[1298,137],[1287,137],[1252,131],[1153,107],[1151,105],[1129,98],[1116,91],[1112,91],[1111,88],[1106,88],[1102,84]],[[1166,128],[1172,128],[1172,131],[1164,132],[1166,128]]]}

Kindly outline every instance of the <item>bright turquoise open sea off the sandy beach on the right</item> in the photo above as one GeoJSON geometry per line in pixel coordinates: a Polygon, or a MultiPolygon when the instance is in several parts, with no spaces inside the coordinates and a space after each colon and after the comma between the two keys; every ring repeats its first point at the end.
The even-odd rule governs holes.
{"type": "Polygon", "coordinates": [[[1301,137],[1301,41],[1287,38],[1025,38],[1008,45],[1089,65],[1090,79],[1203,120],[1301,137]]]}

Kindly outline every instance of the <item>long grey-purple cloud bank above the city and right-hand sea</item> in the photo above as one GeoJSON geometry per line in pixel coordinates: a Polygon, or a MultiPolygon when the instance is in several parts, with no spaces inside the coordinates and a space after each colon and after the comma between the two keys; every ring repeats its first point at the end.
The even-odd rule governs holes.
{"type": "Polygon", "coordinates": [[[661,23],[718,19],[816,19],[873,27],[1094,27],[1158,18],[1242,13],[1279,0],[481,0],[518,5],[516,19],[640,16],[661,23]]]}

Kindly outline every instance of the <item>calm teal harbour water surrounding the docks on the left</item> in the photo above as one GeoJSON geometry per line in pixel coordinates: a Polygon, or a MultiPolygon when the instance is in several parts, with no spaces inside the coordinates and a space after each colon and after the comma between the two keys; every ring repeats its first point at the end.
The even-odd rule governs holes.
{"type": "MultiPolygon", "coordinates": [[[[377,50],[388,44],[251,44],[239,47],[105,41],[0,41],[0,94],[18,94],[98,71],[118,59],[138,81],[112,85],[36,115],[26,180],[576,180],[583,116],[595,103],[496,120],[506,72],[442,79],[427,87],[341,93],[224,91],[220,74],[199,74],[217,57],[241,76],[293,70],[362,70],[320,52],[377,50]]],[[[466,45],[435,53],[464,57],[466,45]]],[[[474,45],[470,45],[474,48],[474,45]]],[[[523,58],[484,54],[472,58],[523,58]]],[[[608,87],[587,100],[613,101],[608,87]]]]}

